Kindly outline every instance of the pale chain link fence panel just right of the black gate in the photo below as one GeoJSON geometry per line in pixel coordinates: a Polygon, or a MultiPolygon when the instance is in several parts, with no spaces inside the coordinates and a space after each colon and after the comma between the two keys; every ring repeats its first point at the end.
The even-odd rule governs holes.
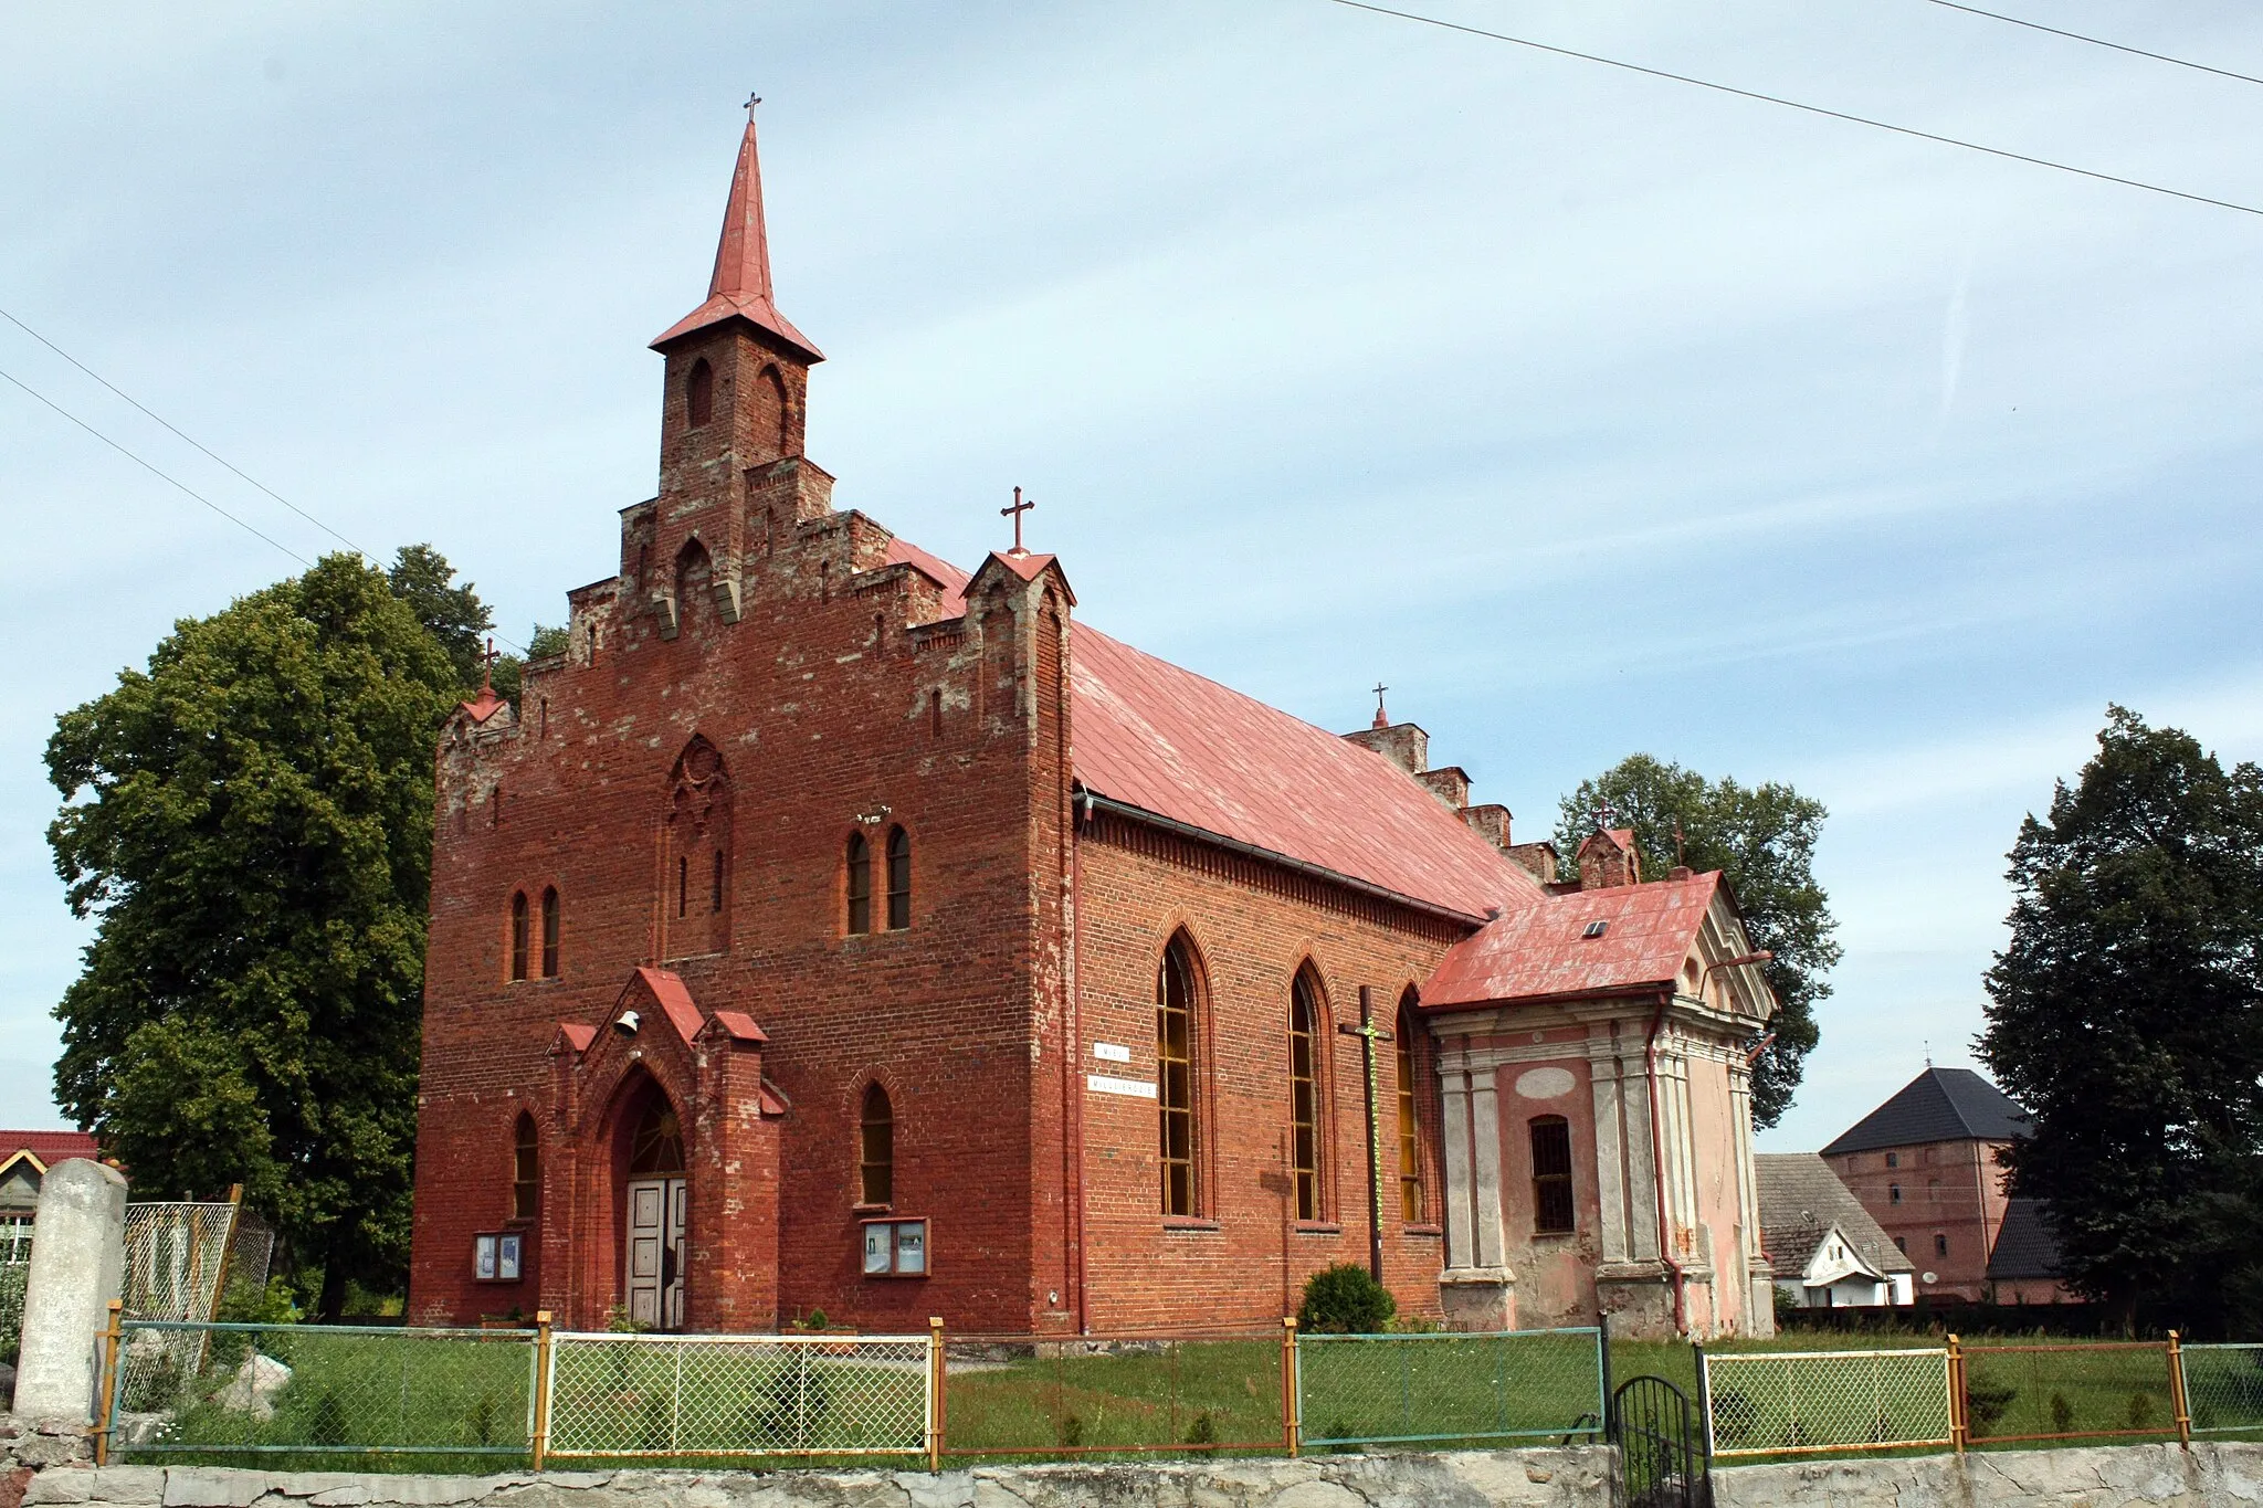
{"type": "Polygon", "coordinates": [[[1700,1354],[1713,1456],[1951,1445],[1946,1350],[1700,1354]]]}

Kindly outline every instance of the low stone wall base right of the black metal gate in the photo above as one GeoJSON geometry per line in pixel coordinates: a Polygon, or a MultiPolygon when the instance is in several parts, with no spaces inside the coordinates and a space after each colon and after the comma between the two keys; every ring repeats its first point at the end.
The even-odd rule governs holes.
{"type": "Polygon", "coordinates": [[[2105,1445],[1713,1472],[1715,1508],[2202,1508],[2263,1503],[2263,1445],[2105,1445]]]}

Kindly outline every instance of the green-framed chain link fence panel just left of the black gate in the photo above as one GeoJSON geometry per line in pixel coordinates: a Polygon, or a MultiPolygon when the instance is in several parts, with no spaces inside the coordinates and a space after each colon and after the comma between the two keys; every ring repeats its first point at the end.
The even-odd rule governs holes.
{"type": "Polygon", "coordinates": [[[1297,1336],[1303,1445],[1600,1440],[1600,1329],[1297,1336]]]}

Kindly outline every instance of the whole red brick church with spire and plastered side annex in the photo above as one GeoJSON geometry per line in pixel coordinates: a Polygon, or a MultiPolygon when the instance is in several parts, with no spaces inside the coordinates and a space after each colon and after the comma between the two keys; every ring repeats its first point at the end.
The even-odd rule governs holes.
{"type": "Polygon", "coordinates": [[[1378,1248],[1457,1325],[1770,1327],[1718,875],[1559,879],[1421,728],[833,509],[751,122],[654,350],[659,497],[441,742],[412,1316],[1263,1323],[1378,1248]]]}

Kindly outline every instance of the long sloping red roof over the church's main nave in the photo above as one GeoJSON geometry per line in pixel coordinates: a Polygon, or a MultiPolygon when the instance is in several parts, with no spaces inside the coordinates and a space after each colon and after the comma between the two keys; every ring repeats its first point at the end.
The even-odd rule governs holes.
{"type": "MultiPolygon", "coordinates": [[[[892,540],[966,613],[969,574],[892,540]]],[[[1032,579],[1052,556],[993,556],[1032,579]]],[[[1075,775],[1170,821],[1482,918],[1539,884],[1378,753],[1073,622],[1075,775]]]]}

